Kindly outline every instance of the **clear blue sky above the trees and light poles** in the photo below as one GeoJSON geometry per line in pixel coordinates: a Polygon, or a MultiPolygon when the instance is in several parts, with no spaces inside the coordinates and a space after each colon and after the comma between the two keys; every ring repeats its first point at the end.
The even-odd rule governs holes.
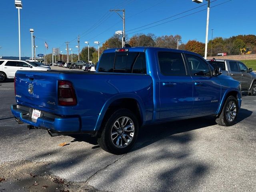
{"type": "MultiPolygon", "coordinates": [[[[74,53],[77,53],[75,46],[78,35],[81,36],[81,48],[87,46],[84,41],[89,41],[90,46],[97,48],[94,41],[104,42],[113,36],[115,31],[122,30],[122,19],[109,10],[123,8],[126,14],[125,28],[128,38],[139,33],[153,33],[156,36],[178,34],[182,36],[184,43],[188,40],[204,42],[206,3],[206,0],[201,4],[192,0],[22,0],[21,56],[31,56],[30,28],[35,31],[37,54],[45,53],[44,41],[49,46],[46,54],[49,54],[52,48],[58,47],[66,53],[64,44],[66,41],[70,41],[69,48],[73,48],[74,53]],[[198,6],[201,7],[197,8],[198,6]],[[191,10],[193,8],[196,9],[191,10]],[[180,14],[188,10],[191,11],[180,14]],[[198,12],[200,10],[203,11],[198,12]],[[194,12],[198,13],[192,14],[194,12]],[[174,16],[176,14],[180,15],[174,16]],[[186,16],[188,14],[191,15],[186,16]],[[174,17],[157,22],[171,16],[174,17]],[[185,17],[180,18],[182,16],[185,17]],[[179,19],[174,20],[176,18],[179,19]],[[167,23],[146,30],[143,30],[144,28],[133,30],[153,22],[157,23],[144,28],[167,23]]],[[[18,10],[14,6],[14,0],[1,0],[0,7],[0,46],[2,47],[0,55],[18,56],[18,10]]],[[[214,29],[213,37],[229,38],[238,34],[256,34],[254,21],[256,1],[211,0],[211,7],[209,40],[212,36],[211,29],[214,29]]]]}

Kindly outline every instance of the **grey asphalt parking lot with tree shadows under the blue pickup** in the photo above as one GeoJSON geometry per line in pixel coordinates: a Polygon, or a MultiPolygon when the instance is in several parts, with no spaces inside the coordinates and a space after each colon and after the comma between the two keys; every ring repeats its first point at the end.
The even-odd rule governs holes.
{"type": "Polygon", "coordinates": [[[0,83],[0,192],[255,192],[256,96],[242,99],[234,126],[206,117],[144,127],[116,156],[86,135],[16,124],[14,83],[0,83]]]}

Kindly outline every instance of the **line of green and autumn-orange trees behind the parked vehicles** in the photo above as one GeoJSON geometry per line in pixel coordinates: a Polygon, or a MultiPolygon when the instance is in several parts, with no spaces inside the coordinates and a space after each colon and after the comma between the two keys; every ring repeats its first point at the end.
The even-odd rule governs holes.
{"type": "MultiPolygon", "coordinates": [[[[155,36],[152,33],[149,34],[135,34],[132,36],[126,44],[132,47],[146,46],[146,47],[162,47],[176,49],[177,45],[180,50],[187,50],[198,53],[204,56],[205,44],[197,40],[189,40],[187,43],[182,42],[180,35],[165,35],[155,36]]],[[[113,35],[111,38],[106,40],[102,47],[100,47],[100,55],[108,48],[121,48],[122,38],[118,35],[113,35]]],[[[228,53],[228,55],[240,54],[240,48],[250,48],[252,53],[256,53],[256,36],[255,35],[238,35],[230,38],[216,37],[208,42],[208,53],[207,56],[217,56],[218,53],[228,53]]],[[[50,61],[51,54],[48,54],[47,60],[50,61]]],[[[89,47],[90,61],[93,63],[98,62],[98,50],[94,47],[89,47]]],[[[71,62],[71,55],[69,56],[71,62]]],[[[62,55],[60,54],[60,60],[62,55]]],[[[67,60],[67,55],[63,55],[63,60],[67,60]]],[[[78,60],[78,54],[73,54],[73,62],[78,60]]],[[[88,62],[88,47],[82,48],[80,52],[80,60],[88,62]]],[[[55,60],[54,60],[55,62],[55,60]]]]}

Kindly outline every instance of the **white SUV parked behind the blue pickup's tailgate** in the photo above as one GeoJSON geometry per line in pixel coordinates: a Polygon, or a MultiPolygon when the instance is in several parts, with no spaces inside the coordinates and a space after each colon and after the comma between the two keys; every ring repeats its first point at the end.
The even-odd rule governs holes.
{"type": "Polygon", "coordinates": [[[0,59],[0,82],[13,79],[17,70],[47,71],[49,69],[22,60],[0,59]]]}

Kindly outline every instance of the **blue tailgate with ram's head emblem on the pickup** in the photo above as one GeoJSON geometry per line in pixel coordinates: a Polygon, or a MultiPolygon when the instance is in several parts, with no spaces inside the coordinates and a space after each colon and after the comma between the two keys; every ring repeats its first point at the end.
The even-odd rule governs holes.
{"type": "Polygon", "coordinates": [[[54,112],[58,108],[58,73],[16,72],[16,101],[18,104],[54,112]]]}

